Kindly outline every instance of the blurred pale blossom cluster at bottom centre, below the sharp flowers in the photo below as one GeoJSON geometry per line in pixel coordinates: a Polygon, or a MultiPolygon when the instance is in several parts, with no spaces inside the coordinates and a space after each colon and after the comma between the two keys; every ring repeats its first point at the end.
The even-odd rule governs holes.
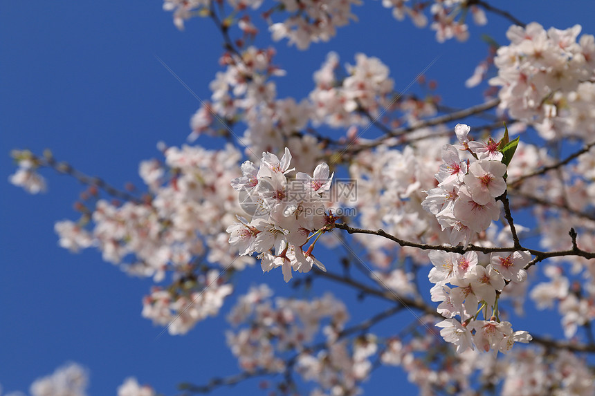
{"type": "Polygon", "coordinates": [[[357,384],[369,375],[369,357],[377,351],[374,336],[358,337],[352,345],[347,339],[339,340],[349,315],[345,305],[331,294],[309,301],[277,297],[274,304],[271,296],[273,292],[266,285],[251,287],[228,317],[234,326],[248,326],[227,333],[242,370],[282,372],[288,369],[282,354],[296,351],[295,371],[319,387],[311,395],[325,391],[331,395],[359,394],[357,384]],[[321,326],[325,341],[309,346],[320,337],[321,326]]]}

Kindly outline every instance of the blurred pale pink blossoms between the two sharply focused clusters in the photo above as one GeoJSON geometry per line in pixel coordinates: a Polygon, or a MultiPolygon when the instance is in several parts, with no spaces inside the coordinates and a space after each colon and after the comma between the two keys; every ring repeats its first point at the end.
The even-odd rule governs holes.
{"type": "MultiPolygon", "coordinates": [[[[432,135],[432,131],[424,131],[432,135]]],[[[440,164],[440,147],[448,140],[436,136],[408,144],[403,149],[386,146],[358,153],[349,167],[351,178],[358,180],[359,226],[381,228],[398,238],[417,243],[447,243],[441,236],[436,218],[421,208],[422,192],[434,187],[434,173],[440,164]],[[437,144],[438,142],[438,144],[437,144]]],[[[381,268],[388,268],[394,256],[412,258],[425,264],[428,256],[419,249],[399,248],[385,238],[357,234],[367,247],[366,258],[381,268]],[[398,250],[397,250],[398,249],[398,250]]]]}

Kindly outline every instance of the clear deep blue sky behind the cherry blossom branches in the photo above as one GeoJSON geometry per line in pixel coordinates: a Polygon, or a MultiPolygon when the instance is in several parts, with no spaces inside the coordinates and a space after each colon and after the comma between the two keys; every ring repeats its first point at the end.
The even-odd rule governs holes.
{"type": "MultiPolygon", "coordinates": [[[[541,0],[497,3],[525,22],[539,21],[546,28],[580,23],[583,33],[595,33],[591,1],[564,6],[541,0]]],[[[434,32],[413,28],[410,21],[395,21],[380,1],[369,1],[354,12],[358,22],[340,28],[338,37],[314,44],[306,53],[285,43],[277,45],[276,63],[288,72],[277,81],[279,97],[307,95],[313,71],[335,50],[342,63],[353,62],[359,52],[380,57],[390,67],[396,89],[407,86],[438,57],[427,75],[438,80],[443,103],[468,106],[481,100],[482,88],[464,88],[464,81],[486,56],[479,36],[486,32],[504,44],[509,25],[488,14],[488,26],[471,26],[467,43],[437,44],[434,32]]],[[[266,33],[261,36],[259,42],[268,44],[266,33]]],[[[0,384],[4,390],[26,391],[35,378],[66,361],[89,368],[92,395],[115,393],[129,375],[171,395],[181,381],[201,384],[214,375],[237,373],[236,361],[225,346],[222,317],[199,323],[185,337],[165,334],[156,339],[161,328],[140,317],[141,298],[152,282],[126,276],[94,250],[73,255],[57,246],[55,221],[77,218],[72,204],[83,187],[76,180],[46,171],[49,191],[43,196],[30,196],[7,181],[14,171],[11,149],[42,153],[50,148],[57,159],[113,185],[121,187],[128,181],[140,185],[140,160],[158,157],[160,140],[183,144],[190,133],[190,116],[199,107],[156,56],[196,95],[208,99],[208,83],[219,70],[220,53],[221,37],[210,21],[191,20],[180,32],[156,0],[122,1],[117,6],[63,0],[0,4],[0,180],[4,180],[0,384]]],[[[280,276],[268,275],[255,267],[244,275],[239,290],[267,281],[283,292],[280,276]]],[[[351,293],[328,287],[354,301],[351,293]]],[[[228,300],[224,312],[235,299],[228,300]]],[[[372,300],[354,305],[354,317],[361,317],[368,303],[372,300]]],[[[378,305],[377,310],[382,308],[378,305]]],[[[387,384],[394,385],[394,371],[374,373],[371,384],[364,387],[367,394],[381,394],[387,384]]],[[[253,385],[246,389],[257,391],[253,385]]],[[[237,391],[221,389],[216,394],[237,391]]]]}

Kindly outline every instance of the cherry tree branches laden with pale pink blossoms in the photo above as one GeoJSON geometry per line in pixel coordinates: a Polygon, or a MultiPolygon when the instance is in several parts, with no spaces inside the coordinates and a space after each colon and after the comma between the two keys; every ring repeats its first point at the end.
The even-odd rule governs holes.
{"type": "MultiPolygon", "coordinates": [[[[295,47],[299,62],[354,23],[360,1],[165,0],[179,30],[211,23],[223,44],[187,144],[159,144],[140,163],[143,187],[24,149],[11,153],[10,182],[42,193],[51,169],[86,185],[77,218],[55,223],[60,245],[152,279],[141,314],[164,333],[226,316],[237,369],[179,379],[183,395],[253,377],[265,394],[358,395],[383,366],[421,395],[593,395],[594,36],[523,23],[495,2],[381,4],[439,42],[509,23],[460,88],[484,88],[483,102],[443,103],[423,73],[428,95],[400,90],[398,65],[364,53],[331,52],[308,95],[278,95],[275,46],[295,47]],[[246,272],[262,284],[239,294],[246,272]],[[322,282],[367,316],[350,319],[359,308],[322,282]],[[300,293],[276,296],[272,283],[300,293]],[[518,326],[528,305],[565,338],[518,326]]],[[[86,381],[71,364],[30,393],[83,395],[86,381]]],[[[133,377],[117,390],[157,392],[133,377]]]]}

